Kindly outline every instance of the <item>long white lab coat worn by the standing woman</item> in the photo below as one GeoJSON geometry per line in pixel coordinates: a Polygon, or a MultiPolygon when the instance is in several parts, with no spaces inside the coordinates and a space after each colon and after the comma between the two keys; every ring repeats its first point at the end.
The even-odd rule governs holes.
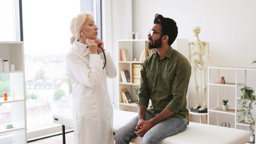
{"type": "Polygon", "coordinates": [[[67,76],[73,88],[73,128],[75,144],[112,144],[113,109],[106,77],[117,76],[117,68],[105,50],[89,54],[87,45],[75,41],[67,54],[67,76]]]}

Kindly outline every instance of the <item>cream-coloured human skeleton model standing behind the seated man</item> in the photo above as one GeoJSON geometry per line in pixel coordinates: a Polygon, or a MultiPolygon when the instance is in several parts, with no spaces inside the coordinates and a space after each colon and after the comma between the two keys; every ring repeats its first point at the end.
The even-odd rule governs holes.
{"type": "MultiPolygon", "coordinates": [[[[197,41],[195,42],[189,42],[189,62],[191,62],[191,57],[194,56],[194,76],[195,76],[195,90],[197,94],[197,105],[194,106],[192,109],[198,109],[198,110],[205,110],[207,109],[206,106],[206,71],[207,71],[207,63],[209,62],[209,43],[206,41],[200,41],[198,34],[200,33],[201,28],[199,26],[195,26],[193,29],[194,35],[197,38],[197,41]],[[192,49],[192,50],[191,50],[192,49]],[[198,79],[197,79],[197,72],[203,72],[204,76],[201,77],[201,85],[203,85],[203,106],[200,104],[200,97],[198,93],[198,79]],[[203,80],[204,81],[203,81],[203,80]]],[[[192,64],[191,64],[192,65],[192,64]]],[[[200,81],[199,80],[199,81],[200,81]]]]}

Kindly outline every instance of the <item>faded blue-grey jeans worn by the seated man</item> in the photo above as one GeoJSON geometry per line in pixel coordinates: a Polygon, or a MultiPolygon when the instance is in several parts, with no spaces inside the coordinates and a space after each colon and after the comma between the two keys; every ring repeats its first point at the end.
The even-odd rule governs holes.
{"type": "MultiPolygon", "coordinates": [[[[147,121],[151,119],[149,115],[145,115],[144,120],[147,121]]],[[[115,143],[116,144],[127,144],[130,142],[131,139],[134,139],[137,137],[137,135],[134,133],[137,131],[135,129],[136,125],[138,124],[138,116],[131,119],[129,122],[127,122],[126,125],[121,127],[116,133],[115,133],[115,143]]],[[[175,134],[180,133],[181,131],[184,131],[189,124],[188,119],[181,119],[181,118],[175,118],[170,117],[162,122],[159,122],[159,124],[154,125],[150,130],[147,131],[147,133],[143,136],[143,142],[144,144],[156,144],[159,143],[161,140],[165,139],[166,137],[173,136],[175,134]]]]}

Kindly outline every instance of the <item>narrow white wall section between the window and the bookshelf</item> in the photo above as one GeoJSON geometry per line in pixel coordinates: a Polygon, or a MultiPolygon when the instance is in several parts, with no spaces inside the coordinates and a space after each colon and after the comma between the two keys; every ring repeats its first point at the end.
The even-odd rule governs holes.
{"type": "MultiPolygon", "coordinates": [[[[118,69],[117,40],[132,38],[132,1],[105,0],[103,8],[103,41],[105,49],[111,53],[118,69]]],[[[119,72],[118,72],[119,74],[119,72]]],[[[117,109],[118,79],[108,79],[108,90],[114,108],[117,109]]]]}

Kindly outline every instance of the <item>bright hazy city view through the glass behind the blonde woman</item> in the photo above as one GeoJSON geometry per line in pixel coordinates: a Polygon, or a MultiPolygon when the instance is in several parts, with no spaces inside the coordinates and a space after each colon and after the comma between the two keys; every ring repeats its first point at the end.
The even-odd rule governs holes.
{"type": "Polygon", "coordinates": [[[25,51],[26,119],[29,131],[52,127],[52,115],[72,104],[66,77],[71,48],[70,20],[80,1],[22,1],[25,51]]]}

